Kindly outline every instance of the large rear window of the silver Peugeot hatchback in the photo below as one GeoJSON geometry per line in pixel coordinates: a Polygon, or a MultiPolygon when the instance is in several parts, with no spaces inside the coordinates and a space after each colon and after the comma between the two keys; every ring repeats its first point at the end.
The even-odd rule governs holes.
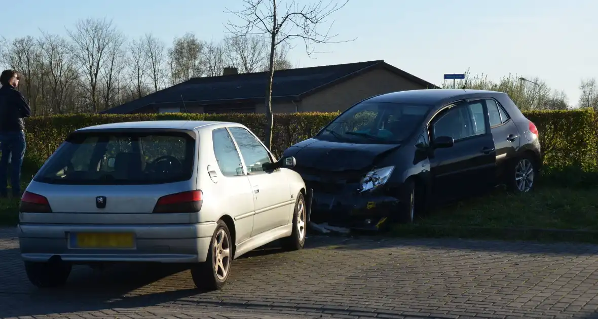
{"type": "Polygon", "coordinates": [[[195,139],[185,132],[81,132],[68,137],[35,176],[77,185],[159,184],[193,174],[195,139]]]}

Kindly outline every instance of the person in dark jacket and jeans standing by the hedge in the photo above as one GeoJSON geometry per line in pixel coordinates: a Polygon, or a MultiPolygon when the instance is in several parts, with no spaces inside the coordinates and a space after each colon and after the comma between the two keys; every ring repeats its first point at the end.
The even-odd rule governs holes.
{"type": "Polygon", "coordinates": [[[25,120],[31,108],[19,91],[19,74],[4,70],[0,75],[0,197],[7,197],[8,160],[11,160],[10,183],[13,197],[21,196],[21,166],[25,156],[25,120]]]}

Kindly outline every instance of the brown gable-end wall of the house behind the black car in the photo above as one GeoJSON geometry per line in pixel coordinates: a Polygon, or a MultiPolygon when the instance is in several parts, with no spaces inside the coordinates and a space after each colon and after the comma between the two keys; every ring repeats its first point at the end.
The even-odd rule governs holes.
{"type": "Polygon", "coordinates": [[[423,88],[426,88],[425,85],[409,81],[396,73],[374,69],[307,96],[301,101],[300,112],[343,112],[367,97],[423,88]]]}

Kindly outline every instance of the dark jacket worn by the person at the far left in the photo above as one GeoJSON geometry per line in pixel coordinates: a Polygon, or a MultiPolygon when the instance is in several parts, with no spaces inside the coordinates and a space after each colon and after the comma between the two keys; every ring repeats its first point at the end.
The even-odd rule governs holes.
{"type": "Polygon", "coordinates": [[[23,118],[31,116],[31,108],[25,97],[12,85],[0,88],[0,133],[25,129],[23,118]]]}

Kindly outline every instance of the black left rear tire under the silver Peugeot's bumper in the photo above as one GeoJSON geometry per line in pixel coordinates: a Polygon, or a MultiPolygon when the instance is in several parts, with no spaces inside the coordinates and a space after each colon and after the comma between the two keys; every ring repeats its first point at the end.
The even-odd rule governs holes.
{"type": "Polygon", "coordinates": [[[27,278],[39,288],[61,287],[71,275],[72,265],[62,261],[25,262],[27,278]]]}

